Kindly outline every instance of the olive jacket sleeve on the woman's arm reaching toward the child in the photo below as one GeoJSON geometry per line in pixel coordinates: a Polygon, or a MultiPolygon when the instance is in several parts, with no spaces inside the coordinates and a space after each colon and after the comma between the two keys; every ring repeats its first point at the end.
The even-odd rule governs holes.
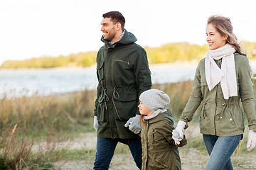
{"type": "MultiPolygon", "coordinates": [[[[187,125],[188,125],[188,122],[192,120],[193,114],[196,112],[196,109],[200,106],[201,101],[203,100],[203,95],[201,91],[201,74],[200,74],[201,64],[204,64],[202,60],[198,64],[198,67],[196,68],[196,75],[193,80],[193,91],[191,93],[191,96],[188,99],[188,102],[186,103],[186,106],[183,110],[181,118],[179,119],[186,122],[187,125]]],[[[186,125],[186,128],[188,127],[187,125],[186,125]]]]}

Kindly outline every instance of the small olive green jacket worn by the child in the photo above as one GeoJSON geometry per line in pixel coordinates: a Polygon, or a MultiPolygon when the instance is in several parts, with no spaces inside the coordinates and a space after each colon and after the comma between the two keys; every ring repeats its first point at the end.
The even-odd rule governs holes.
{"type": "Polygon", "coordinates": [[[174,120],[171,109],[145,120],[142,137],[142,170],[181,169],[178,147],[186,145],[184,136],[178,147],[172,139],[174,120]]]}

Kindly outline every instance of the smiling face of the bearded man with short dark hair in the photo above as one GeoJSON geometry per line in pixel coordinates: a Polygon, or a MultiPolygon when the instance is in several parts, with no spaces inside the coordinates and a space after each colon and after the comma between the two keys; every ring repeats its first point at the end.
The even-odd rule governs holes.
{"type": "Polygon", "coordinates": [[[103,18],[101,25],[102,27],[100,28],[100,30],[103,33],[104,40],[111,42],[116,36],[116,25],[114,25],[114,23],[110,21],[110,18],[103,18]]]}

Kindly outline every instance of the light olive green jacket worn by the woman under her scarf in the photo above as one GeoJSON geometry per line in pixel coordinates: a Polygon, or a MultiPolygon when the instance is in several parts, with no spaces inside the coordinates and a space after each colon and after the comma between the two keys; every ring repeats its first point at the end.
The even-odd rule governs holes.
{"type": "MultiPolygon", "coordinates": [[[[191,121],[193,114],[202,102],[200,131],[203,134],[221,137],[242,135],[245,125],[240,101],[248,119],[249,129],[256,132],[256,114],[250,65],[246,56],[239,55],[238,53],[234,55],[238,96],[225,100],[220,83],[209,91],[206,84],[205,58],[199,62],[196,69],[193,91],[180,120],[186,123],[191,121]]],[[[217,60],[216,63],[220,67],[221,60],[217,60]]]]}

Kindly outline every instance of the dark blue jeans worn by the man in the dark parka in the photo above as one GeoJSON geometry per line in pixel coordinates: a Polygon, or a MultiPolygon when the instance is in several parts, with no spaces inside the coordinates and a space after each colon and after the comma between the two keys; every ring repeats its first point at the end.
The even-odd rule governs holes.
{"type": "Polygon", "coordinates": [[[132,139],[111,139],[97,137],[97,151],[93,169],[109,169],[114,149],[118,142],[129,146],[129,149],[139,169],[142,169],[142,142],[140,138],[132,139]]]}

